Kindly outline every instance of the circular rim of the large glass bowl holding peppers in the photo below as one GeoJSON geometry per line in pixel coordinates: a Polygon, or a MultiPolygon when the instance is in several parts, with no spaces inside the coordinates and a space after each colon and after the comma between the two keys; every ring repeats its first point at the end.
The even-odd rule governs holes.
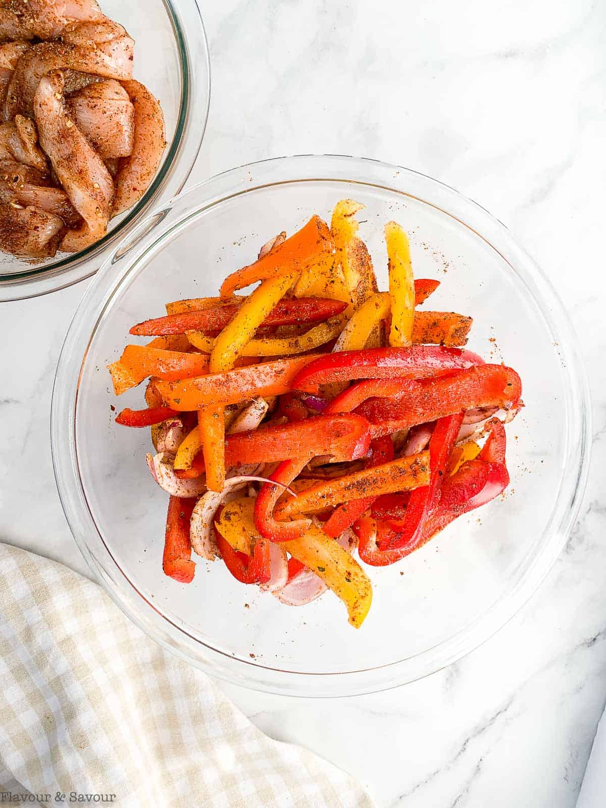
{"type": "Polygon", "coordinates": [[[505,225],[488,213],[486,208],[469,200],[454,188],[417,171],[377,160],[353,158],[347,155],[296,155],[249,163],[215,175],[169,200],[161,208],[157,208],[141,221],[137,230],[138,232],[134,235],[131,234],[132,238],[124,239],[120,243],[113,260],[107,259],[103,271],[90,284],[78,311],[74,314],[57,364],[51,411],[53,468],[65,517],[95,579],[102,583],[108,594],[128,617],[167,650],[217,678],[265,692],[309,697],[339,697],[380,692],[418,680],[461,659],[465,654],[486,642],[511,617],[514,617],[528,598],[537,591],[541,581],[558,558],[579,512],[587,483],[591,452],[591,398],[583,363],[579,357],[578,341],[570,318],[549,279],[518,244],[505,225]],[[368,175],[373,173],[381,175],[383,183],[389,182],[390,184],[370,181],[368,175]],[[286,671],[279,667],[259,664],[256,659],[250,661],[231,657],[224,650],[210,646],[198,638],[193,638],[182,626],[179,626],[178,622],[171,621],[169,617],[160,614],[152,604],[149,604],[145,596],[137,590],[136,584],[128,579],[124,570],[121,570],[113,560],[112,554],[105,545],[103,536],[90,514],[82,480],[78,474],[75,442],[78,379],[82,365],[86,361],[87,347],[95,335],[99,320],[103,318],[104,310],[121,288],[121,284],[128,281],[128,276],[137,269],[141,262],[145,261],[145,257],[154,250],[154,247],[161,245],[166,238],[175,234],[179,225],[187,222],[192,215],[208,210],[208,208],[235,196],[257,191],[262,187],[303,182],[306,179],[314,181],[345,180],[353,184],[361,183],[365,186],[385,188],[385,190],[400,193],[403,196],[419,199],[440,209],[450,217],[452,217],[452,213],[448,209],[423,196],[417,196],[411,191],[414,191],[415,188],[435,191],[444,204],[455,204],[457,210],[461,210],[461,215],[453,218],[461,225],[472,229],[478,238],[482,238],[509,264],[516,276],[524,280],[546,326],[554,335],[554,339],[558,339],[562,373],[566,371],[569,381],[568,385],[563,385],[569,430],[563,450],[567,462],[562,463],[562,477],[560,478],[560,491],[566,482],[564,492],[566,496],[564,498],[558,496],[556,500],[549,522],[543,531],[546,541],[541,552],[537,553],[537,557],[526,566],[524,574],[520,576],[511,591],[500,596],[499,600],[494,601],[486,612],[474,618],[469,625],[458,629],[452,637],[406,659],[386,663],[376,668],[366,668],[364,671],[286,671]],[[396,185],[400,187],[394,187],[396,185]],[[403,185],[410,185],[410,191],[402,190],[403,185]],[[196,203],[193,208],[191,206],[188,208],[189,200],[192,197],[196,199],[196,203]],[[204,201],[200,201],[200,197],[203,197],[204,201]],[[175,208],[177,213],[175,213],[175,208]],[[494,246],[482,234],[482,228],[471,226],[469,221],[466,221],[467,217],[474,224],[476,221],[486,224],[486,230],[490,232],[491,229],[501,239],[503,245],[507,246],[507,250],[503,249],[503,245],[499,245],[501,249],[494,246]],[[162,228],[157,232],[161,223],[162,228]],[[128,261],[125,260],[127,255],[129,256],[128,261]],[[523,264],[521,275],[520,266],[514,267],[511,263],[512,258],[523,264]],[[91,322],[95,322],[92,330],[91,322]],[[74,367],[74,363],[71,361],[75,347],[78,347],[77,356],[83,357],[79,367],[74,367]],[[574,434],[571,434],[572,432],[574,434]],[[558,516],[559,519],[557,525],[552,524],[555,516],[558,516]],[[97,548],[95,548],[95,553],[91,551],[86,542],[86,536],[90,532],[93,534],[96,532],[107,552],[107,558],[103,552],[99,554],[97,548]],[[121,573],[118,575],[117,581],[116,569],[121,573]],[[124,580],[128,582],[126,588],[124,588],[124,580]],[[133,592],[136,595],[133,595],[133,592]],[[143,611],[147,607],[141,607],[141,598],[149,606],[147,613],[143,611]],[[141,607],[138,612],[137,605],[141,607]],[[200,656],[193,657],[187,648],[183,647],[183,644],[180,646],[176,644],[175,638],[170,634],[170,629],[166,629],[164,624],[169,624],[172,629],[177,629],[180,633],[179,636],[192,639],[197,646],[204,646],[209,652],[207,657],[204,659],[201,659],[200,656]],[[425,659],[427,659],[427,663],[423,662],[425,659]],[[379,671],[380,675],[374,675],[368,680],[368,673],[375,671],[379,671]]]}

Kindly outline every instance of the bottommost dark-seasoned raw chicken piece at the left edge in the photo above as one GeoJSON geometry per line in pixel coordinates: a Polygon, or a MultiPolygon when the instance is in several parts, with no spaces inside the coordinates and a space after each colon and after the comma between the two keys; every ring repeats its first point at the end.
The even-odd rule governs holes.
{"type": "Polygon", "coordinates": [[[53,213],[19,204],[0,204],[0,250],[21,258],[47,258],[57,252],[63,221],[53,213]]]}

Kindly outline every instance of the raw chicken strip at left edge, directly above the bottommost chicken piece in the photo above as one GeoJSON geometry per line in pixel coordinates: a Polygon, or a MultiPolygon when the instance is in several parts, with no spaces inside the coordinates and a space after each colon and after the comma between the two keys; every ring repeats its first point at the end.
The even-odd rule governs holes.
{"type": "Polygon", "coordinates": [[[65,191],[51,186],[48,179],[35,168],[13,160],[0,160],[0,201],[16,202],[54,213],[68,226],[82,222],[65,191]]]}

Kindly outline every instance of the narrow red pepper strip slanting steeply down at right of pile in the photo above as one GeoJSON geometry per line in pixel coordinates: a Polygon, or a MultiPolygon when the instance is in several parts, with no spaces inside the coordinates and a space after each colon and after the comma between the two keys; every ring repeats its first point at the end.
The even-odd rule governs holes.
{"type": "MultiPolygon", "coordinates": [[[[410,491],[405,518],[399,524],[388,523],[390,528],[398,530],[398,536],[389,541],[389,549],[396,550],[403,547],[414,549],[419,541],[427,516],[440,499],[444,469],[446,469],[448,457],[457,440],[464,415],[463,412],[457,415],[447,415],[436,423],[429,441],[429,467],[431,469],[429,485],[410,491]]],[[[387,549],[386,546],[381,546],[381,541],[379,541],[379,549],[387,549]]]]}

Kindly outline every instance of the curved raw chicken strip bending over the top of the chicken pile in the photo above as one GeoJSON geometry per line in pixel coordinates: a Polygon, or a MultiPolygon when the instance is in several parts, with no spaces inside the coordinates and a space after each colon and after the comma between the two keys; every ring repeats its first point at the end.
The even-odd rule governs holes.
{"type": "Polygon", "coordinates": [[[33,45],[19,59],[6,91],[4,120],[20,112],[31,115],[34,95],[42,78],[51,70],[71,69],[103,78],[131,78],[133,40],[112,20],[82,23],[65,32],[62,42],[33,45]]]}

